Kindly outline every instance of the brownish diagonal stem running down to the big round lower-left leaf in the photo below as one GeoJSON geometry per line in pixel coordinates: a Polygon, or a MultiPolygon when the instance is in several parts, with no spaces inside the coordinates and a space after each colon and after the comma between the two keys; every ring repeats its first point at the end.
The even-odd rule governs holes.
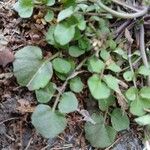
{"type": "MultiPolygon", "coordinates": [[[[52,108],[52,111],[54,112],[55,109],[56,109],[56,106],[59,102],[59,99],[60,99],[60,96],[62,95],[62,93],[65,91],[66,89],[66,86],[68,84],[68,81],[70,79],[72,79],[73,77],[75,77],[75,73],[76,71],[78,71],[83,65],[84,63],[87,61],[88,57],[86,57],[85,59],[83,59],[79,65],[75,68],[75,70],[67,77],[66,81],[63,83],[63,85],[61,86],[60,90],[58,91],[58,94],[56,96],[56,99],[55,99],[55,102],[54,102],[54,105],[53,105],[53,108],[52,108]]],[[[77,74],[76,74],[77,75],[77,74]]]]}

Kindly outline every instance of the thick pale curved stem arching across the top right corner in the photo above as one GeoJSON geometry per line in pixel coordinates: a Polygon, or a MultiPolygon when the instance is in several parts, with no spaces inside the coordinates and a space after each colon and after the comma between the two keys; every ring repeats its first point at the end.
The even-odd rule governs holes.
{"type": "MultiPolygon", "coordinates": [[[[91,0],[90,0],[91,1],[91,0]]],[[[93,2],[93,0],[92,0],[93,2]]],[[[137,18],[137,17],[141,17],[143,15],[145,15],[148,12],[148,7],[144,7],[143,10],[139,10],[136,13],[125,13],[125,12],[117,12],[109,7],[107,7],[106,5],[104,5],[101,0],[97,0],[96,1],[98,3],[98,5],[103,8],[105,11],[109,12],[110,14],[112,14],[113,16],[119,17],[119,18],[123,18],[123,19],[133,19],[133,18],[137,18]]]]}

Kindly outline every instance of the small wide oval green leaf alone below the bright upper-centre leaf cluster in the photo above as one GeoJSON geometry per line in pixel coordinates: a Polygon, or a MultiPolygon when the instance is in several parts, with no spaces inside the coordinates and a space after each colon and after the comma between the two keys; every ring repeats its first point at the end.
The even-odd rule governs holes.
{"type": "Polygon", "coordinates": [[[79,57],[84,53],[85,53],[85,51],[80,49],[77,46],[70,46],[69,47],[69,55],[72,56],[72,57],[79,57]]]}

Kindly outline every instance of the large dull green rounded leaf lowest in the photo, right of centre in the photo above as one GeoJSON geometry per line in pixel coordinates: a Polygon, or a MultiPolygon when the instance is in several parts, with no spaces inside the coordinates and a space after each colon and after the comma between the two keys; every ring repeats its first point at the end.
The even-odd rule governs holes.
{"type": "Polygon", "coordinates": [[[111,145],[116,137],[116,131],[111,127],[104,125],[101,115],[93,114],[92,119],[96,124],[87,122],[85,124],[85,136],[93,147],[105,148],[111,145]]]}

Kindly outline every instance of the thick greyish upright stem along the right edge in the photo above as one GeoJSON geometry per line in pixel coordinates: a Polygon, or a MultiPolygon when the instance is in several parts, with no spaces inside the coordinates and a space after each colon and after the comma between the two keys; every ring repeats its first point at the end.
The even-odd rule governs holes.
{"type": "MultiPolygon", "coordinates": [[[[141,55],[142,55],[142,60],[144,63],[144,66],[149,69],[149,64],[148,64],[148,59],[146,56],[146,52],[145,52],[145,38],[144,38],[144,26],[141,25],[140,27],[140,51],[141,51],[141,55]]],[[[148,76],[148,86],[150,86],[150,76],[148,76]]]]}

